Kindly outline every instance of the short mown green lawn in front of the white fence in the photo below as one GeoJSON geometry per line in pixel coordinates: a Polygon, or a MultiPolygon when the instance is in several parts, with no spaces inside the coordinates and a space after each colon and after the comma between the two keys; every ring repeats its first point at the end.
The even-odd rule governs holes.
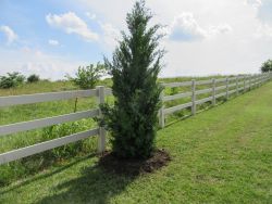
{"type": "Polygon", "coordinates": [[[172,162],[136,178],[86,156],[0,190],[0,203],[271,203],[272,82],[158,133],[172,162]]]}

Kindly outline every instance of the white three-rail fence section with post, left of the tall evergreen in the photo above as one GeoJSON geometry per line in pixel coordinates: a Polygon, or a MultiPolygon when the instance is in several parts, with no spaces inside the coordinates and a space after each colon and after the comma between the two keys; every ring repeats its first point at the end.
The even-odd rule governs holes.
{"type": "MultiPolygon", "coordinates": [[[[87,98],[96,97],[99,104],[104,102],[106,95],[111,95],[112,91],[109,88],[102,86],[91,90],[76,90],[76,91],[62,91],[62,92],[49,92],[49,93],[36,93],[36,94],[24,94],[24,95],[12,95],[12,97],[0,97],[0,107],[23,105],[58,100],[69,100],[73,98],[87,98]]],[[[20,131],[27,131],[38,128],[44,128],[52,125],[75,122],[83,118],[91,118],[99,116],[101,111],[99,109],[87,110],[65,115],[59,115],[53,117],[47,117],[41,119],[35,119],[29,122],[22,122],[16,124],[9,124],[0,126],[0,138],[7,135],[16,133],[20,131]]],[[[47,150],[59,148],[78,140],[87,139],[89,137],[98,136],[98,152],[101,153],[106,149],[106,130],[103,127],[96,129],[65,136],[54,140],[49,140],[30,146],[13,150],[0,154],[0,165],[12,161],[16,161],[26,156],[30,156],[37,153],[41,153],[47,150]]]]}

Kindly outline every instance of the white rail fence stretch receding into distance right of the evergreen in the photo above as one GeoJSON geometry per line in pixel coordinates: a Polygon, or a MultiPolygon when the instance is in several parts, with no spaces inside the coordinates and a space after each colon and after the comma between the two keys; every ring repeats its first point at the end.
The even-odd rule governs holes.
{"type": "Polygon", "coordinates": [[[247,76],[235,76],[230,78],[219,78],[219,79],[209,79],[209,80],[195,80],[184,81],[184,82],[172,82],[164,84],[164,87],[190,87],[190,91],[164,97],[161,94],[161,100],[163,102],[173,101],[177,99],[184,99],[190,97],[190,102],[178,104],[176,106],[165,109],[162,106],[159,113],[159,123],[160,127],[165,126],[165,115],[175,113],[177,111],[182,111],[190,107],[191,115],[195,115],[197,112],[197,105],[203,104],[206,102],[211,102],[212,105],[217,104],[217,99],[221,97],[225,97],[226,100],[231,97],[231,94],[235,93],[238,95],[242,91],[245,92],[250,90],[251,88],[258,87],[261,84],[270,80],[272,78],[272,73],[260,74],[260,75],[247,75],[247,76]],[[197,86],[206,85],[209,88],[197,90],[197,86]],[[220,86],[219,86],[220,85],[220,86]],[[218,93],[218,91],[222,91],[218,93]],[[198,95],[203,93],[210,93],[210,97],[203,99],[197,99],[198,95]]]}

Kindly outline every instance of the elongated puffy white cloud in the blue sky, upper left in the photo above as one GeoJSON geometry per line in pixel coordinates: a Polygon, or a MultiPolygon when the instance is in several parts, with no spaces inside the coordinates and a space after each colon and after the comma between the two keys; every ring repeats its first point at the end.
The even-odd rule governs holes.
{"type": "Polygon", "coordinates": [[[64,14],[48,14],[47,23],[55,28],[63,29],[66,34],[77,34],[86,41],[98,40],[98,35],[88,28],[87,24],[75,13],[69,12],[64,14]]]}

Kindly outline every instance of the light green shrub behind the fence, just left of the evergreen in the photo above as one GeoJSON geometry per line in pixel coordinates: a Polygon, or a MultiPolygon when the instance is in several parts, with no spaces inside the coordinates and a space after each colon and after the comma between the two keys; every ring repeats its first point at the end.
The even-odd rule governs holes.
{"type": "Polygon", "coordinates": [[[78,67],[75,78],[66,76],[74,85],[82,89],[94,89],[98,80],[106,75],[106,68],[103,64],[97,63],[97,65],[90,64],[86,67],[78,67]]]}

